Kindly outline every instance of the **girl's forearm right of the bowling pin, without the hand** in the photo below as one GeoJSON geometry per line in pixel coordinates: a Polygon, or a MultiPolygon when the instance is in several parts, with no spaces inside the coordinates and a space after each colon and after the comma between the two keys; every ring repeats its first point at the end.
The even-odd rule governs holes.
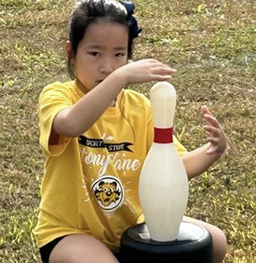
{"type": "Polygon", "coordinates": [[[220,155],[218,154],[206,154],[209,147],[210,143],[207,143],[204,146],[187,152],[182,156],[182,161],[189,180],[199,176],[220,158],[220,155]]]}

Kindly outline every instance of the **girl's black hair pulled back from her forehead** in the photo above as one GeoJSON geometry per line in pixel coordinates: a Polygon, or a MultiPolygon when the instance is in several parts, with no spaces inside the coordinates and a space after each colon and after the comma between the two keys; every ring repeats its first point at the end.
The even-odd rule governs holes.
{"type": "MultiPolygon", "coordinates": [[[[108,19],[127,27],[129,32],[127,58],[131,59],[133,52],[133,39],[135,38],[134,30],[130,26],[131,16],[127,13],[123,4],[114,0],[80,0],[75,5],[69,23],[69,40],[72,48],[72,55],[76,55],[78,45],[88,26],[92,23],[97,23],[101,18],[108,19]]],[[[68,70],[71,77],[74,78],[74,71],[70,59],[69,56],[68,70]]]]}

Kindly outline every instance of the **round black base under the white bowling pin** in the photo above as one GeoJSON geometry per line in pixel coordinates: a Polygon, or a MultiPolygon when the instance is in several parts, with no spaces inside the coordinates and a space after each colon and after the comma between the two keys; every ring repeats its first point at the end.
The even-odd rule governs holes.
{"type": "Polygon", "coordinates": [[[120,263],[148,260],[151,263],[212,263],[210,233],[190,222],[181,222],[179,235],[171,242],[157,242],[145,223],[127,229],[121,237],[120,263]]]}

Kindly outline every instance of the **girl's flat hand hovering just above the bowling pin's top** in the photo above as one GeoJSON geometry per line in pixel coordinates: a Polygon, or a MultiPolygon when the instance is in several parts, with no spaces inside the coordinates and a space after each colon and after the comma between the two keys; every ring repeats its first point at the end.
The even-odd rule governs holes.
{"type": "Polygon", "coordinates": [[[176,70],[156,59],[129,62],[116,70],[116,73],[119,73],[123,78],[125,85],[149,81],[167,81],[175,72],[176,70]]]}

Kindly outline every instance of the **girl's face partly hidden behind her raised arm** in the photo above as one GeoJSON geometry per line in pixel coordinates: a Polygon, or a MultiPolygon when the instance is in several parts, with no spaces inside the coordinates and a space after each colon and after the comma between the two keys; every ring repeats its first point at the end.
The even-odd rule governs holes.
{"type": "Polygon", "coordinates": [[[121,24],[101,19],[88,26],[73,60],[75,76],[87,91],[127,63],[128,40],[121,24]]]}

